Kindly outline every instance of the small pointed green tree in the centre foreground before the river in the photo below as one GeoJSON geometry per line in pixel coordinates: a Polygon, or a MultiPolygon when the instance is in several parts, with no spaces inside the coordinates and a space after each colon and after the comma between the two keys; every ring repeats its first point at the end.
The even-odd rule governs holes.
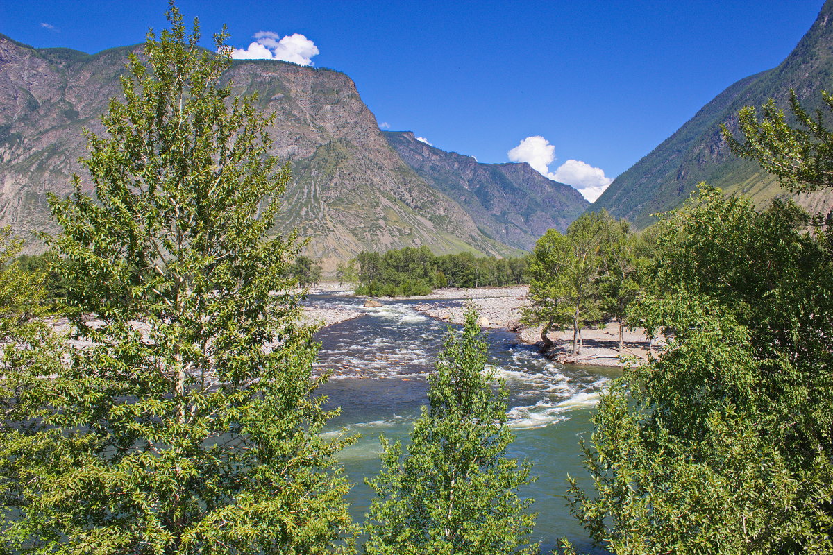
{"type": "MultiPolygon", "coordinates": [[[[526,546],[531,500],[517,491],[530,467],[506,457],[506,389],[484,371],[486,344],[477,314],[466,311],[461,335],[449,330],[429,377],[429,407],[416,420],[407,454],[382,437],[382,473],[368,514],[365,553],[505,555],[526,546]]],[[[526,547],[525,547],[526,546],[526,547]]]]}

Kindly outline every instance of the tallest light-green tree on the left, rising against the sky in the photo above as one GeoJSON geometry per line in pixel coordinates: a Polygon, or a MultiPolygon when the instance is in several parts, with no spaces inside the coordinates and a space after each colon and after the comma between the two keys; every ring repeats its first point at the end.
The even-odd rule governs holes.
{"type": "Polygon", "coordinates": [[[8,552],[322,553],[352,533],[345,442],[319,434],[317,344],[289,293],[298,245],[267,239],[289,179],[272,118],[218,84],[223,34],[203,51],[167,17],[107,136],[87,133],[95,199],[76,177],[51,200],[89,344],[14,369],[8,552]]]}

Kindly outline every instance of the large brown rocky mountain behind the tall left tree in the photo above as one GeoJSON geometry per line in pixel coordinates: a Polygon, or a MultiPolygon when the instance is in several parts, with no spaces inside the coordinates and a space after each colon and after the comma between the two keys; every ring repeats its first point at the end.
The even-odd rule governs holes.
{"type": "MultiPolygon", "coordinates": [[[[121,97],[125,57],[140,47],[87,55],[32,48],[0,35],[0,225],[22,235],[57,231],[47,193],[71,191],[85,154],[82,128],[102,134],[111,97],[121,97]]],[[[257,92],[277,114],[274,154],[292,164],[277,230],[310,237],[307,255],[325,270],[360,250],[428,245],[436,253],[515,249],[478,229],[456,201],[428,186],[388,145],[356,85],[340,72],[271,60],[235,61],[224,78],[257,92]]],[[[32,246],[36,249],[37,246],[32,246]]]]}

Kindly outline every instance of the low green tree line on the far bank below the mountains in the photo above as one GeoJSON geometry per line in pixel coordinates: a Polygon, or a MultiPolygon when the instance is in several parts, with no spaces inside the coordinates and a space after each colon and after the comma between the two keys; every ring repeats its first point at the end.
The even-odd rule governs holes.
{"type": "Polygon", "coordinates": [[[356,295],[428,295],[431,288],[485,287],[524,283],[526,256],[496,258],[471,252],[435,255],[426,246],[362,251],[357,257],[356,295]]]}

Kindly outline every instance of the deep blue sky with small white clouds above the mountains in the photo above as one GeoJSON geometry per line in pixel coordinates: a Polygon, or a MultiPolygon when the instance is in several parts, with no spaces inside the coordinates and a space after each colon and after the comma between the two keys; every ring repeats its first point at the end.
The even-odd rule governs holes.
{"type": "MultiPolygon", "coordinates": [[[[822,0],[180,0],[212,47],[347,73],[382,129],[528,161],[594,200],[739,79],[776,67],[822,0]]],[[[0,2],[0,32],[83,52],[166,26],[167,0],[0,2]],[[25,6],[25,7],[24,7],[25,6]]]]}

